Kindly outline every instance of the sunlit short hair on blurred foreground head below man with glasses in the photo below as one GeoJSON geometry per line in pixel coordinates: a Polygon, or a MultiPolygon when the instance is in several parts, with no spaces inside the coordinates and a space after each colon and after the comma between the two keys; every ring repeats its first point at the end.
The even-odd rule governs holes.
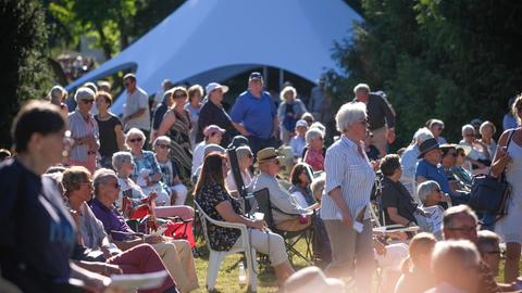
{"type": "Polygon", "coordinates": [[[469,240],[447,240],[435,244],[432,253],[432,271],[437,279],[448,280],[455,268],[471,269],[481,262],[475,245],[469,240]]]}

